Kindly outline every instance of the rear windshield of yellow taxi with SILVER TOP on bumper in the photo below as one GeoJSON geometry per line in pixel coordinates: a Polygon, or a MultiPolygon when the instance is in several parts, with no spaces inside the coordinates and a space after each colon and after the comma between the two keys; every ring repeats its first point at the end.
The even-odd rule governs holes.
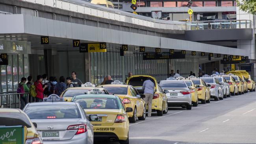
{"type": "Polygon", "coordinates": [[[115,98],[78,98],[78,99],[75,99],[74,102],[80,103],[83,109],[120,109],[121,108],[121,104],[115,98]]]}

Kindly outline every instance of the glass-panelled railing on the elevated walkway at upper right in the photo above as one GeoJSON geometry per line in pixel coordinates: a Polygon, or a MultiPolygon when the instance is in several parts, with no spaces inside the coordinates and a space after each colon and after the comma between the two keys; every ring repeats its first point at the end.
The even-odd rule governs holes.
{"type": "Polygon", "coordinates": [[[251,28],[251,20],[209,20],[186,22],[186,30],[251,28]]]}

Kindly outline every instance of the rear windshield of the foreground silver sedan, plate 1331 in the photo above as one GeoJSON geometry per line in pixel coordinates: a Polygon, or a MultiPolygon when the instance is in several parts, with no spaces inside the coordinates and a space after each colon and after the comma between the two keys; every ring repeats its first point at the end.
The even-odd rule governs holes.
{"type": "Polygon", "coordinates": [[[29,105],[24,112],[30,119],[81,118],[76,105],[29,105]]]}

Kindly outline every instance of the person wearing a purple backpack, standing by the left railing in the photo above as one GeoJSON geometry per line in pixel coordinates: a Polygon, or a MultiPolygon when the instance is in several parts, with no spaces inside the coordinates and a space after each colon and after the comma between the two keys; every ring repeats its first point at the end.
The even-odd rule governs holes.
{"type": "MultiPolygon", "coordinates": [[[[25,93],[29,92],[29,88],[26,85],[26,78],[21,78],[21,82],[18,85],[17,93],[25,93]]],[[[23,107],[28,103],[28,95],[27,94],[20,94],[20,109],[23,109],[23,107]]]]}

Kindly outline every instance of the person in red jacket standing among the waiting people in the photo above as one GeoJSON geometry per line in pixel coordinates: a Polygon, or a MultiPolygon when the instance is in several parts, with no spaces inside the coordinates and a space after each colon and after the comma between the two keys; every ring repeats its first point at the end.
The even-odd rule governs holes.
{"type": "Polygon", "coordinates": [[[37,81],[34,82],[35,92],[37,93],[37,95],[35,97],[36,102],[42,102],[43,101],[43,98],[44,98],[43,92],[47,88],[47,85],[45,85],[45,87],[43,87],[42,81],[43,81],[43,77],[41,75],[38,75],[37,76],[37,81]]]}

